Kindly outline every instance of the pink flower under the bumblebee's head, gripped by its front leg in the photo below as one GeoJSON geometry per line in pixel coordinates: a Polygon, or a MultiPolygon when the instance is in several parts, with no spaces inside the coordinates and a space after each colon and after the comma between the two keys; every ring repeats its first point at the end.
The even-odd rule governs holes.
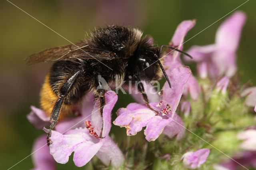
{"type": "Polygon", "coordinates": [[[156,113],[148,109],[146,105],[130,103],[126,108],[118,110],[118,117],[113,122],[114,125],[126,127],[128,136],[135,135],[143,127],[146,127],[144,134],[148,141],[156,140],[162,132],[169,138],[174,136],[177,136],[177,140],[182,138],[185,132],[184,123],[175,111],[180,102],[184,84],[188,81],[190,74],[191,71],[188,67],[174,69],[169,75],[172,88],[170,89],[166,82],[162,88],[160,103],[150,103],[153,109],[161,111],[163,115],[161,113],[155,115],[156,113]]]}

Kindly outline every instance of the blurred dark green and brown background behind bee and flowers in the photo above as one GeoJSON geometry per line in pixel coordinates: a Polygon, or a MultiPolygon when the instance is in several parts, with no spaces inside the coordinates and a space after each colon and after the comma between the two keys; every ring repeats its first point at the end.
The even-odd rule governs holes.
{"type": "MultiPolygon", "coordinates": [[[[245,0],[11,0],[11,2],[71,42],[82,40],[84,34],[94,29],[94,26],[114,23],[136,26],[143,30],[144,35],[150,34],[158,44],[167,45],[176,26],[183,20],[194,18],[197,20],[196,26],[186,36],[188,40],[240,6],[245,0]]],[[[248,15],[237,51],[238,71],[242,75],[243,83],[250,79],[253,85],[256,84],[255,6],[256,1],[250,0],[238,8],[248,15]]],[[[43,133],[42,130],[36,130],[30,125],[26,115],[30,112],[30,105],[38,106],[38,93],[51,64],[27,66],[23,59],[42,49],[69,42],[8,1],[1,1],[0,9],[0,169],[7,169],[28,156],[34,140],[43,133]]],[[[226,18],[186,42],[184,50],[192,45],[214,43],[215,32],[226,18]]],[[[193,65],[191,66],[193,68],[193,65]]],[[[114,111],[119,107],[126,107],[132,101],[133,99],[128,95],[119,95],[114,111]]],[[[117,140],[126,138],[124,128],[113,126],[113,129],[120,132],[117,140]]],[[[12,169],[33,167],[29,156],[12,169]]],[[[58,169],[64,168],[76,167],[72,161],[68,165],[58,165],[58,169]]]]}

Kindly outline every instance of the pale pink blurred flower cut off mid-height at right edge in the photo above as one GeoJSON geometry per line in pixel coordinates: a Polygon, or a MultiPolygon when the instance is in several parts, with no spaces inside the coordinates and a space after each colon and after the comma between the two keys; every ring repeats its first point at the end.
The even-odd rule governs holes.
{"type": "Polygon", "coordinates": [[[242,91],[242,97],[246,97],[245,105],[254,107],[254,111],[256,112],[256,87],[249,87],[242,91]]]}

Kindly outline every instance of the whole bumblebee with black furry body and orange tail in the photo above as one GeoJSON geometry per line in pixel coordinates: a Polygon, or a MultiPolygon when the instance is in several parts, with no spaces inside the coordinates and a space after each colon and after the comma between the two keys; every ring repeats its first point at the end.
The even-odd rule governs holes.
{"type": "MultiPolygon", "coordinates": [[[[109,85],[116,81],[116,76],[119,83],[125,81],[124,85],[128,85],[131,81],[133,86],[136,84],[147,107],[155,111],[148,104],[141,81],[159,79],[162,70],[171,87],[160,61],[164,47],[180,51],[167,45],[159,48],[150,36],[142,37],[142,32],[136,28],[111,25],[95,29],[83,42],[46,49],[25,59],[28,65],[54,62],[40,92],[41,108],[52,121],[47,135],[48,146],[58,119],[76,111],[86,93],[93,92],[96,99],[100,98],[102,116],[106,104],[102,78],[109,85]]],[[[99,137],[104,137],[102,130],[99,137]]]]}

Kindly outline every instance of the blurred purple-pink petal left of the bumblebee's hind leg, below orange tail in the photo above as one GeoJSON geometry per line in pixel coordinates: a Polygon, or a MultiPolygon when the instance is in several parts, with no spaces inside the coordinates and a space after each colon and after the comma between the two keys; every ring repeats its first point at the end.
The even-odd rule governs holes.
{"type": "Polygon", "coordinates": [[[27,115],[27,119],[35,128],[42,129],[45,126],[51,125],[50,117],[48,117],[44,111],[34,106],[30,108],[32,111],[27,115]]]}

